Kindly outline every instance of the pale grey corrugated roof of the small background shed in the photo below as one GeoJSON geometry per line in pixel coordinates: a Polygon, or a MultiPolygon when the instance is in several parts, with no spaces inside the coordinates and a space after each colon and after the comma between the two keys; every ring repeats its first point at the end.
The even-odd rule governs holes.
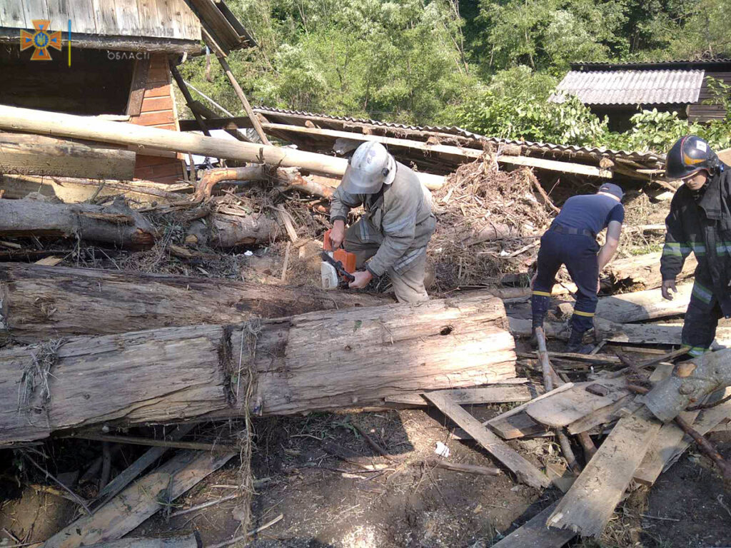
{"type": "Polygon", "coordinates": [[[677,104],[698,101],[702,70],[572,70],[550,101],[575,95],[584,104],[677,104]]]}

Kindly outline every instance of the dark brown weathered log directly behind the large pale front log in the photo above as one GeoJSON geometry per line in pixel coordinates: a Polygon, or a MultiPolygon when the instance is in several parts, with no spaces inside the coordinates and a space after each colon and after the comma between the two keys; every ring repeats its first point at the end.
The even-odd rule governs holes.
{"type": "Polygon", "coordinates": [[[22,343],[391,302],[313,287],[23,263],[0,264],[0,296],[0,334],[22,343]]]}

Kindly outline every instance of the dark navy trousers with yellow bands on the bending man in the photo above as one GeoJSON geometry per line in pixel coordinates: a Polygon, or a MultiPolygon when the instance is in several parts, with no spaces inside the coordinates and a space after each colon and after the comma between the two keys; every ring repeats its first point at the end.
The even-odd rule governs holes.
{"type": "Polygon", "coordinates": [[[538,251],[538,271],[533,283],[531,309],[533,326],[543,324],[550,308],[550,292],[556,283],[556,273],[561,265],[566,265],[571,279],[578,288],[571,327],[583,333],[594,326],[596,303],[596,283],[599,280],[599,261],[596,254],[599,244],[591,236],[563,234],[549,230],[541,237],[538,251]]]}

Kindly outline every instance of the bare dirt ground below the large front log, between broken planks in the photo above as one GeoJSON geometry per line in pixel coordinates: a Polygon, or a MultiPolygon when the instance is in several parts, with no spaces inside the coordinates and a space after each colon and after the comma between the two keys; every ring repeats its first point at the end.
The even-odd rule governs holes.
{"type": "MultiPolygon", "coordinates": [[[[470,411],[487,419],[508,407],[472,406],[470,411]]],[[[438,411],[417,409],[257,419],[252,468],[254,477],[265,482],[253,498],[251,528],[279,514],[284,517],[258,533],[249,546],[486,548],[561,495],[556,488],[539,492],[518,484],[509,473],[477,476],[423,465],[423,460],[435,456],[437,442],[442,442],[450,450],[450,462],[499,466],[473,442],[450,438],[451,426],[445,427],[438,411]],[[393,455],[393,460],[371,449],[358,427],[393,455]],[[369,464],[385,468],[368,471],[364,467],[369,464]]],[[[731,435],[713,436],[717,443],[722,442],[721,454],[731,457],[731,435]]],[[[60,443],[48,444],[47,449],[76,454],[81,460],[58,460],[56,474],[84,468],[93,460],[93,454],[84,453],[83,447],[72,451],[68,445],[88,446],[89,442],[65,441],[64,447],[60,443]]],[[[551,438],[512,441],[510,445],[536,465],[561,462],[560,450],[551,438]]],[[[115,463],[124,466],[135,455],[119,453],[115,463]]],[[[0,541],[0,547],[15,544],[6,531],[23,542],[41,541],[67,525],[74,514],[72,503],[39,490],[39,485],[53,486],[53,482],[35,471],[18,474],[18,463],[9,459],[10,452],[0,452],[0,539],[8,539],[0,541]],[[23,476],[20,486],[18,476],[23,476]]],[[[235,492],[230,486],[238,484],[238,467],[238,459],[230,461],[179,498],[175,509],[235,492]]],[[[235,500],[167,521],[159,512],[129,536],[198,530],[203,545],[211,546],[241,534],[239,516],[235,500]]],[[[576,540],[573,545],[727,547],[731,545],[731,493],[724,490],[710,462],[691,450],[653,489],[637,490],[621,504],[602,539],[576,540]]]]}

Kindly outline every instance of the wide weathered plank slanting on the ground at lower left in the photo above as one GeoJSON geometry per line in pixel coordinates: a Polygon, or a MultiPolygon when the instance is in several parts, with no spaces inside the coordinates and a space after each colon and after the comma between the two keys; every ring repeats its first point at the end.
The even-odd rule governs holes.
{"type": "Polygon", "coordinates": [[[92,516],[80,517],[45,541],[42,548],[76,548],[114,541],[218,470],[238,453],[186,451],[127,487],[92,516]]]}

